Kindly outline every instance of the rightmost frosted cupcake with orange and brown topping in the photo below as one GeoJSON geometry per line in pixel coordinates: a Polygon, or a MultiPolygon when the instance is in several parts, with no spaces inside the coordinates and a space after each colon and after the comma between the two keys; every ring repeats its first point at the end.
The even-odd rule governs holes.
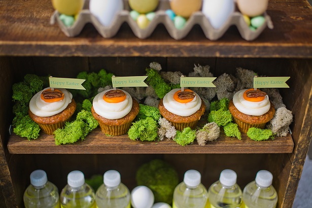
{"type": "Polygon", "coordinates": [[[229,103],[229,110],[239,130],[244,133],[251,127],[264,129],[275,114],[267,94],[253,88],[236,92],[229,103]]]}

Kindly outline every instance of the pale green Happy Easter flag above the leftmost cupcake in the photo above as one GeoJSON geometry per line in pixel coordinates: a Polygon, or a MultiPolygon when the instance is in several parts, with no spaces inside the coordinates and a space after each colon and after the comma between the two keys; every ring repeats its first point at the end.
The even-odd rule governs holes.
{"type": "Polygon", "coordinates": [[[49,77],[50,87],[86,90],[81,84],[85,80],[72,78],[49,77]]]}

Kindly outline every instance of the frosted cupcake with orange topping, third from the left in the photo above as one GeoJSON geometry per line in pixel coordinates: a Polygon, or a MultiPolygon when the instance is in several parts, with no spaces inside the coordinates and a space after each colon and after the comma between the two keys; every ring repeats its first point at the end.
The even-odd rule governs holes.
{"type": "Polygon", "coordinates": [[[159,101],[159,112],[177,130],[186,127],[194,129],[205,112],[205,105],[199,95],[192,90],[173,89],[159,101]]]}

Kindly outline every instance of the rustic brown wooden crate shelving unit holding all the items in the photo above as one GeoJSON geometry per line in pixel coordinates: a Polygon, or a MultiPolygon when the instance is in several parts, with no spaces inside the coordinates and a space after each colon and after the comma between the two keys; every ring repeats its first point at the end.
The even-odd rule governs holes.
{"type": "Polygon", "coordinates": [[[260,169],[273,174],[279,207],[291,207],[311,140],[312,125],[312,9],[306,1],[270,1],[268,14],[275,29],[247,42],[230,28],[219,41],[207,40],[194,27],[181,41],[171,39],[163,26],[152,37],[140,40],[125,24],[113,39],[103,39],[87,25],[76,38],[67,38],[57,26],[48,25],[53,8],[49,0],[2,1],[0,8],[0,163],[1,207],[22,207],[22,195],[32,170],[47,171],[59,190],[68,172],[82,170],[86,178],[108,169],[121,172],[122,181],[135,187],[135,170],[154,158],[174,165],[180,180],[186,170],[201,172],[208,188],[220,172],[237,172],[241,188],[254,180],[260,169]],[[204,147],[181,147],[172,141],[130,141],[126,135],[106,137],[95,129],[84,142],[55,146],[53,136],[41,134],[36,141],[9,135],[12,85],[25,74],[75,78],[79,72],[105,68],[117,76],[145,74],[152,61],[164,71],[188,73],[194,64],[210,65],[214,76],[233,74],[236,67],[260,75],[290,76],[290,88],[281,89],[284,103],[293,112],[292,135],[266,142],[241,141],[222,135],[204,147]]]}

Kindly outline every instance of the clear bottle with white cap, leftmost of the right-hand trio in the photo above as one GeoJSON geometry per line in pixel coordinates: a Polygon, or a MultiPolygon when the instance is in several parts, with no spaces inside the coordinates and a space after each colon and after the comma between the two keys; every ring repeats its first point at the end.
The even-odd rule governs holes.
{"type": "Polygon", "coordinates": [[[207,189],[200,180],[201,175],[197,170],[186,171],[183,182],[175,188],[172,208],[204,208],[207,189]]]}

